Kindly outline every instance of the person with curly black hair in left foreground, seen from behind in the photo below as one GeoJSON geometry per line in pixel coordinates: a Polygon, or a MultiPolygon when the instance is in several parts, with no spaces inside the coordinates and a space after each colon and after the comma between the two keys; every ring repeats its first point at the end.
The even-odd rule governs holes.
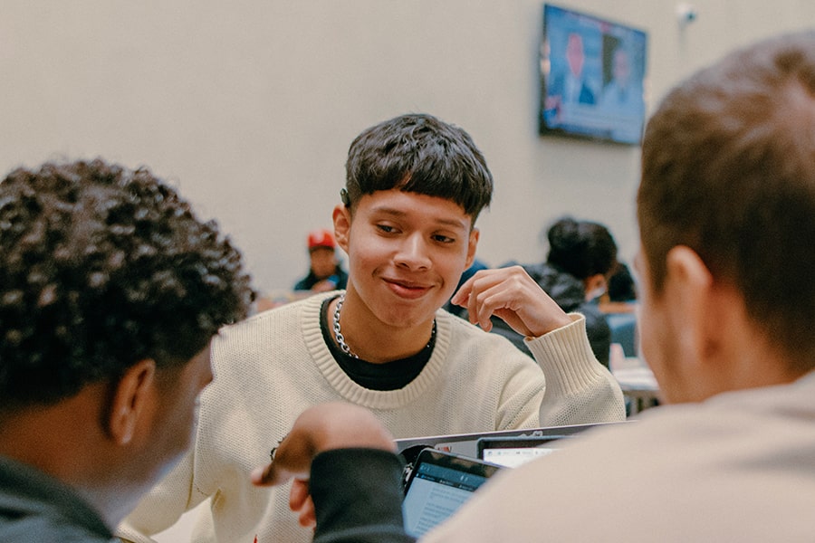
{"type": "Polygon", "coordinates": [[[0,183],[0,540],[110,541],[187,450],[240,252],[146,168],[0,183]]]}

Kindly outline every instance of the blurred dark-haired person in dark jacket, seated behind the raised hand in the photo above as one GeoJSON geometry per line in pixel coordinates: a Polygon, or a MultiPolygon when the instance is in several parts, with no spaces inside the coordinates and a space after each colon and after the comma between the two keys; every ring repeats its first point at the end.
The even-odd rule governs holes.
{"type": "MultiPolygon", "coordinates": [[[[546,237],[546,262],[523,264],[523,269],[567,312],[586,317],[586,331],[594,356],[609,367],[611,329],[597,299],[608,288],[609,273],[617,266],[617,243],[602,224],[563,217],[551,225],[546,237]]],[[[508,262],[507,267],[516,262],[508,262]]],[[[509,338],[526,353],[523,336],[502,319],[493,318],[493,331],[509,338]]]]}

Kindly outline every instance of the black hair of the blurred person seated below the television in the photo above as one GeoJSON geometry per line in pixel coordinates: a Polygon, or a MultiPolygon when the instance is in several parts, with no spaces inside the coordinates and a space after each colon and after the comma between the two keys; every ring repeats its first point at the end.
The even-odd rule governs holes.
{"type": "Polygon", "coordinates": [[[580,281],[617,266],[617,243],[602,224],[563,217],[551,225],[547,239],[546,262],[580,281]]]}

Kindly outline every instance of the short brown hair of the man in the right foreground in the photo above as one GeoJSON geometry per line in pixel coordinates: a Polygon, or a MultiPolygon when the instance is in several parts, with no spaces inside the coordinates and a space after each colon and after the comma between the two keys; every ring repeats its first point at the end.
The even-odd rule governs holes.
{"type": "Polygon", "coordinates": [[[655,294],[686,245],[778,348],[815,365],[815,33],[733,52],[649,119],[638,221],[655,294]]]}

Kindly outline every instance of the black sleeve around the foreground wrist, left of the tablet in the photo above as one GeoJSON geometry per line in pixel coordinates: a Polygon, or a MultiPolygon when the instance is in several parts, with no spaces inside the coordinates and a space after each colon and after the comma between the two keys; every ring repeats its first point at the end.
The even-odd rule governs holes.
{"type": "Polygon", "coordinates": [[[408,543],[402,520],[402,464],[378,449],[321,452],[309,489],[317,515],[314,543],[408,543]]]}

